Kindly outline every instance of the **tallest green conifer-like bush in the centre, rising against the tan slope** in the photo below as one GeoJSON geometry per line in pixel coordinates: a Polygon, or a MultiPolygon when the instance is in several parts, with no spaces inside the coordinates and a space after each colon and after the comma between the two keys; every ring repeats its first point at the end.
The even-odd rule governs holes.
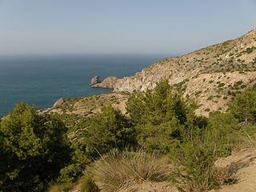
{"type": "Polygon", "coordinates": [[[162,153],[178,146],[182,129],[194,117],[182,95],[172,93],[168,80],[158,82],[153,91],[130,96],[126,109],[138,132],[138,144],[162,153]]]}

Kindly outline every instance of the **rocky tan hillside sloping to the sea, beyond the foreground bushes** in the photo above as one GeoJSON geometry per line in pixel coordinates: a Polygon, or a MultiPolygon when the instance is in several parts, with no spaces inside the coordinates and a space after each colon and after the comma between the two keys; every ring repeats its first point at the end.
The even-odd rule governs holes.
{"type": "Polygon", "coordinates": [[[106,82],[98,83],[94,87],[107,85],[114,88],[114,93],[69,98],[64,105],[55,105],[48,111],[90,116],[99,111],[102,106],[100,103],[110,102],[124,113],[129,93],[134,90],[152,90],[155,82],[167,78],[174,89],[182,90],[185,98],[193,98],[198,102],[197,114],[207,116],[213,110],[225,112],[228,109],[226,103],[235,94],[255,86],[255,70],[256,29],[240,38],[196,50],[181,58],[165,58],[134,76],[114,81],[106,78],[106,82]],[[97,102],[98,99],[101,102],[97,102]]]}

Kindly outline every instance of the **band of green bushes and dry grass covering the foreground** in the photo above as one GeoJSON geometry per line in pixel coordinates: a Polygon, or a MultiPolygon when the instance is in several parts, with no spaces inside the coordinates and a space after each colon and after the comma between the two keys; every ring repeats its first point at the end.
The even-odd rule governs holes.
{"type": "Polygon", "coordinates": [[[110,105],[92,117],[38,114],[21,103],[0,122],[0,191],[115,191],[166,175],[181,191],[218,188],[232,177],[216,159],[255,141],[256,91],[229,106],[197,116],[167,80],[132,94],[126,115],[110,105]]]}

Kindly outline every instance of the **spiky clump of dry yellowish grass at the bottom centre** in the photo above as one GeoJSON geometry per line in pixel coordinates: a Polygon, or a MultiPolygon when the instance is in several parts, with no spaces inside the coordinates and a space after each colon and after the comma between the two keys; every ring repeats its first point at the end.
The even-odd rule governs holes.
{"type": "Polygon", "coordinates": [[[159,165],[158,154],[144,150],[119,152],[113,150],[94,163],[92,173],[99,188],[104,191],[118,191],[146,180],[158,180],[165,176],[159,165]]]}

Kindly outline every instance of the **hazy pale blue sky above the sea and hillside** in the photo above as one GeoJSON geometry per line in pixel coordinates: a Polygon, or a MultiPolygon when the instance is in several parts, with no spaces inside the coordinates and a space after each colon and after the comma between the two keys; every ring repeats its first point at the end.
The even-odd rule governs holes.
{"type": "Polygon", "coordinates": [[[256,0],[0,0],[0,54],[185,54],[255,24],[256,0]]]}

